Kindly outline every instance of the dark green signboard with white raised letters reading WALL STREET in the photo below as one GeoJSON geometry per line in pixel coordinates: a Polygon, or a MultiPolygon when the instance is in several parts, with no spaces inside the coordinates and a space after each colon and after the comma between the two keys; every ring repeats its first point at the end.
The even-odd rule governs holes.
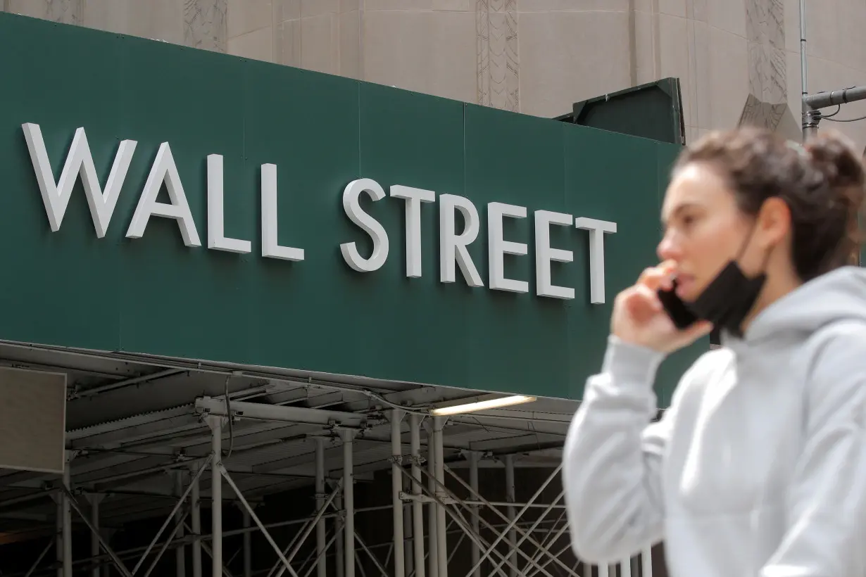
{"type": "MultiPolygon", "coordinates": [[[[613,296],[655,261],[670,144],[7,14],[0,54],[4,340],[578,398],[601,362],[613,296]],[[79,128],[82,166],[92,157],[96,178],[71,176],[61,210],[63,167],[70,150],[84,151],[79,128]],[[209,224],[220,173],[210,155],[222,158],[222,234],[248,240],[249,253],[209,248],[221,220],[209,224]],[[303,260],[262,256],[261,191],[274,177],[276,218],[265,215],[303,260]],[[117,192],[116,206],[101,208],[101,238],[87,178],[117,192]],[[344,209],[344,189],[360,178],[385,192],[359,201],[389,242],[372,272],[340,249],[356,242],[367,258],[374,248],[344,209]],[[406,202],[390,196],[394,185],[435,193],[421,205],[421,276],[407,276],[406,202]],[[145,191],[158,198],[147,204],[145,191]],[[443,195],[477,210],[467,252],[483,286],[459,266],[456,282],[441,280],[443,195]],[[178,198],[190,219],[158,215],[183,212],[178,198]],[[526,245],[504,256],[503,275],[528,292],[490,287],[491,202],[527,210],[502,218],[501,235],[526,245]],[[156,213],[144,224],[142,203],[156,213]],[[50,206],[62,215],[55,231],[50,206]],[[616,223],[604,234],[605,304],[590,302],[592,233],[574,226],[549,227],[550,245],[573,254],[553,262],[553,284],[574,298],[537,294],[536,211],[616,223]],[[187,246],[197,243],[184,242],[181,222],[200,246],[187,246]]],[[[668,363],[662,404],[705,348],[668,363]]]]}

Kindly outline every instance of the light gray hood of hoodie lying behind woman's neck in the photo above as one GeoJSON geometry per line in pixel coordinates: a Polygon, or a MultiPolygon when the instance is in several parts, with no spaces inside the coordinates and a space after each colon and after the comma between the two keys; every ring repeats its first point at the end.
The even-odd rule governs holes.
{"type": "MultiPolygon", "coordinates": [[[[822,274],[779,298],[754,318],[743,340],[777,334],[812,333],[842,320],[866,323],[866,269],[843,266],[822,274]]],[[[726,343],[737,341],[724,334],[726,343]]]]}

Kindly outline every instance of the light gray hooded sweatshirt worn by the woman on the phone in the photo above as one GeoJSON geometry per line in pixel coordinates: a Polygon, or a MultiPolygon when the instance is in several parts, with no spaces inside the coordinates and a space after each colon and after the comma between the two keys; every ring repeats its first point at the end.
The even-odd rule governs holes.
{"type": "Polygon", "coordinates": [[[662,355],[609,339],[565,441],[572,546],[664,541],[672,577],[866,575],[866,270],[811,280],[701,356],[662,420],[662,355]]]}

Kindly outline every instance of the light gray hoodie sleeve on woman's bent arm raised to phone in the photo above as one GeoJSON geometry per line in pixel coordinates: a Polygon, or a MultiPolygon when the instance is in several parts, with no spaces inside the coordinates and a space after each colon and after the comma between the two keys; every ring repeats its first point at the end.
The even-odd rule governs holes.
{"type": "Polygon", "coordinates": [[[674,410],[651,423],[662,358],[610,337],[601,373],[586,382],[563,451],[572,548],[584,561],[616,561],[662,539],[661,465],[674,410]]]}

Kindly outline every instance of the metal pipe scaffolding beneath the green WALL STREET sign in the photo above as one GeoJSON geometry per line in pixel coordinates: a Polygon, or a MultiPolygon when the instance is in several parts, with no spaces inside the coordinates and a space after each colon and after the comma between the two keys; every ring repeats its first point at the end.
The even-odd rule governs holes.
{"type": "Polygon", "coordinates": [[[70,403],[84,407],[105,394],[107,417],[121,407],[108,401],[171,397],[180,382],[210,394],[68,431],[61,478],[0,475],[0,523],[15,511],[36,519],[54,500],[54,518],[39,517],[50,523],[41,525],[48,542],[28,570],[4,577],[165,575],[171,551],[178,577],[203,577],[207,566],[211,577],[652,577],[649,549],[602,567],[573,556],[560,449],[576,403],[441,417],[430,415],[430,402],[476,393],[348,385],[335,395],[333,382],[316,388],[285,375],[263,380],[253,369],[202,369],[150,366],[151,378],[142,378],[133,366],[139,376],[92,387],[71,379],[78,385],[70,403]],[[366,494],[368,485],[380,503],[359,507],[356,486],[366,494]],[[314,490],[312,514],[294,508],[280,517],[263,504],[297,487],[314,490]],[[387,538],[357,530],[372,516],[387,538]],[[146,544],[112,542],[119,524],[145,519],[159,519],[146,544]],[[78,535],[87,529],[89,548],[73,547],[74,527],[78,535]]]}

